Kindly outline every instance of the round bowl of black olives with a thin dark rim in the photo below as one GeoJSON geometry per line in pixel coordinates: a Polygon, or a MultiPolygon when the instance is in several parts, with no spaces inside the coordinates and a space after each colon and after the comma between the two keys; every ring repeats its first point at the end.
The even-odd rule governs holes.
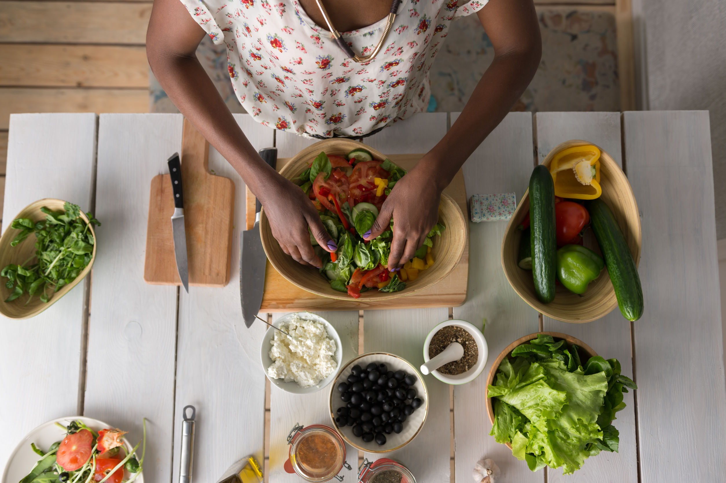
{"type": "Polygon", "coordinates": [[[346,442],[388,453],[423,428],[428,392],[407,360],[386,352],[359,355],[343,366],[330,389],[330,418],[346,442]]]}

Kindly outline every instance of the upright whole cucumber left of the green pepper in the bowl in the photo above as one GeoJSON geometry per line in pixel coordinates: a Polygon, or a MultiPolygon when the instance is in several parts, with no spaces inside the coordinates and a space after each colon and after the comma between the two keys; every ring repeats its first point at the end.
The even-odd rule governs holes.
{"type": "Polygon", "coordinates": [[[544,165],[534,168],[529,178],[529,226],[534,290],[540,302],[552,302],[557,278],[555,183],[544,165]]]}

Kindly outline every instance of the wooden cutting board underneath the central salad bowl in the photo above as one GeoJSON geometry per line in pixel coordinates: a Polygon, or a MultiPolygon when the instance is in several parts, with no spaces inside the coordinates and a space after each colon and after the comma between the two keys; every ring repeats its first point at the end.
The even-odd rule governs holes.
{"type": "MultiPolygon", "coordinates": [[[[423,154],[389,154],[388,158],[405,170],[411,170],[423,154]]],[[[290,158],[279,158],[277,170],[280,171],[290,158]]],[[[468,212],[466,202],[466,189],[464,175],[461,170],[454,176],[454,180],[444,189],[460,206],[462,212],[468,212]]],[[[255,223],[255,195],[246,190],[247,229],[255,223]]],[[[265,292],[262,297],[260,312],[291,312],[294,310],[371,310],[393,308],[426,308],[426,307],[458,307],[466,300],[466,289],[469,281],[469,241],[466,241],[464,255],[459,265],[438,284],[430,286],[411,295],[403,295],[392,300],[378,302],[358,302],[351,297],[350,300],[335,300],[320,297],[317,294],[291,284],[274,267],[267,262],[265,273],[265,292]]]]}

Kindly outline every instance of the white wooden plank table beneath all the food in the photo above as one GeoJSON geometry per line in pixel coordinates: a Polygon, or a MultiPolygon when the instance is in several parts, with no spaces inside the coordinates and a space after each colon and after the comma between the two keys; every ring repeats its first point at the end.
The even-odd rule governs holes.
{"type": "MultiPolygon", "coordinates": [[[[456,117],[417,115],[367,142],[382,152],[425,152],[456,117]]],[[[276,143],[279,156],[290,157],[309,144],[287,133],[275,138],[248,115],[235,118],[256,149],[276,143]]],[[[250,453],[262,460],[267,444],[266,479],[293,482],[300,480],[282,470],[287,432],[297,422],[330,424],[327,390],[295,397],[273,387],[265,434],[265,376],[258,357],[265,326],[240,328],[236,250],[224,289],[192,287],[187,294],[143,281],[150,180],[180,150],[181,124],[181,115],[171,114],[12,115],[3,228],[22,207],[44,197],[92,210],[103,225],[92,277],[36,318],[0,321],[0,471],[23,435],[49,419],[83,414],[130,429],[136,440],[145,417],[144,476],[175,482],[181,408],[192,404],[195,481],[216,482],[250,453]]],[[[451,414],[449,387],[425,376],[431,414],[420,436],[391,457],[420,483],[468,483],[484,455],[502,468],[503,482],[661,482],[680,476],[723,481],[726,389],[708,112],[513,112],[465,163],[467,195],[514,191],[520,199],[534,162],[567,139],[602,146],[623,165],[635,191],[643,222],[643,318],[629,323],[614,310],[579,325],[543,320],[502,272],[506,222],[473,223],[465,304],[366,310],[362,345],[364,352],[395,352],[418,365],[425,335],[453,316],[486,323],[491,364],[507,344],[538,329],[572,334],[605,358],[618,358],[640,387],[625,395],[627,408],[618,413],[620,452],[600,453],[573,476],[531,473],[488,435],[487,366],[476,381],[455,387],[451,414]]],[[[236,247],[245,224],[244,184],[214,149],[209,165],[236,183],[236,247]]],[[[356,355],[359,313],[321,315],[343,339],[344,358],[356,355]]],[[[356,458],[349,451],[354,468],[356,458]]],[[[353,471],[343,474],[346,482],[355,481],[353,471]]]]}

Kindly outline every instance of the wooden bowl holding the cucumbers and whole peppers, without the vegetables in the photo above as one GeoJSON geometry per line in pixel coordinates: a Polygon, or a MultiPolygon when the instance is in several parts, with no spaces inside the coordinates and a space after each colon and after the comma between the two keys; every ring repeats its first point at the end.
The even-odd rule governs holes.
{"type": "MultiPolygon", "coordinates": [[[[566,141],[547,154],[542,162],[543,165],[550,167],[552,157],[563,149],[572,146],[584,146],[592,144],[589,141],[574,140],[566,141]]],[[[595,145],[597,146],[597,145],[595,145]]],[[[605,152],[600,146],[600,186],[602,186],[603,194],[600,199],[607,203],[608,207],[613,211],[616,220],[620,225],[625,236],[630,252],[635,259],[635,265],[640,262],[640,214],[637,209],[635,196],[625,177],[623,170],[619,168],[610,154],[605,152]]],[[[505,276],[510,285],[522,300],[527,302],[534,310],[547,315],[547,317],[555,318],[558,321],[583,323],[595,321],[611,312],[618,306],[615,297],[615,290],[611,284],[608,269],[605,268],[600,276],[590,283],[587,292],[577,295],[570,292],[564,286],[558,284],[555,292],[555,300],[548,304],[544,304],[537,299],[534,291],[534,281],[532,272],[519,268],[517,265],[517,255],[519,250],[519,241],[522,231],[517,227],[522,223],[524,217],[529,212],[529,189],[525,192],[524,197],[519,202],[514,215],[507,225],[507,229],[502,239],[502,268],[504,268],[505,276]]],[[[585,236],[584,244],[586,247],[600,252],[597,247],[595,236],[592,236],[592,230],[588,230],[589,234],[585,236]]]]}

